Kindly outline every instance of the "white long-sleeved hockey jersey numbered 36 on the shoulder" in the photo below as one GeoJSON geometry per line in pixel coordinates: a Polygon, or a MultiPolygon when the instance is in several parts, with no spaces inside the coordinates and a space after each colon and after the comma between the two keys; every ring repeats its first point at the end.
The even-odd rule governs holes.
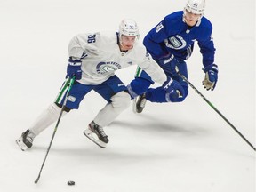
{"type": "Polygon", "coordinates": [[[152,80],[164,84],[164,70],[138,41],[132,50],[122,52],[118,46],[116,32],[85,33],[74,36],[68,44],[69,57],[82,60],[81,84],[101,84],[115,71],[138,65],[145,70],[152,80]]]}

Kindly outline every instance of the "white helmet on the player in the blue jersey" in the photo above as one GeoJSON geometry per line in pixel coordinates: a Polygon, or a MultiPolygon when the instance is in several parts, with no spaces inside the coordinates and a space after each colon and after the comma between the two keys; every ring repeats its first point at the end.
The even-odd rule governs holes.
{"type": "Polygon", "coordinates": [[[204,15],[205,0],[188,0],[185,10],[194,14],[204,15]]]}

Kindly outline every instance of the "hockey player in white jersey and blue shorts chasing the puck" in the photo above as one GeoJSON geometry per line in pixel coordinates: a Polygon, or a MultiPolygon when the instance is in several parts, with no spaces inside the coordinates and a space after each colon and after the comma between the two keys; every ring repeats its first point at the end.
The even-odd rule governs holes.
{"type": "Polygon", "coordinates": [[[172,79],[165,76],[163,69],[151,59],[145,47],[139,43],[139,36],[138,26],[131,19],[122,20],[118,32],[74,36],[68,45],[69,78],[62,85],[57,99],[16,140],[21,150],[31,148],[35,137],[57,121],[68,91],[67,80],[74,76],[76,81],[69,92],[62,116],[71,109],[78,109],[88,92],[98,92],[107,104],[85,129],[84,135],[101,148],[106,148],[108,143],[103,127],[114,121],[131,102],[126,86],[115,75],[116,70],[136,64],[155,82],[163,84],[166,92],[172,92],[172,79]]]}

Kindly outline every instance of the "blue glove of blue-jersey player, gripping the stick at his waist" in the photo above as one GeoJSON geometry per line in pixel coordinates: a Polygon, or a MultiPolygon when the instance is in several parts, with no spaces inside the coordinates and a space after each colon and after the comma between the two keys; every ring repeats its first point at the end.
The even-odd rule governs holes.
{"type": "Polygon", "coordinates": [[[178,68],[179,62],[170,52],[160,58],[158,60],[158,64],[164,69],[164,71],[171,73],[172,76],[179,76],[175,69],[176,67],[178,68]]]}

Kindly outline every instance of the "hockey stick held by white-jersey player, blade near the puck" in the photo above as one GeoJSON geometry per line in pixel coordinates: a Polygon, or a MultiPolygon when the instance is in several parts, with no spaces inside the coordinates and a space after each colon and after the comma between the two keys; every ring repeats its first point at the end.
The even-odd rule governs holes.
{"type": "Polygon", "coordinates": [[[62,116],[62,114],[63,114],[64,108],[65,108],[66,103],[67,103],[67,101],[68,101],[69,92],[70,92],[71,87],[72,87],[72,85],[74,84],[74,82],[75,82],[75,76],[73,76],[72,79],[68,78],[68,81],[67,81],[66,84],[65,84],[66,86],[68,86],[68,84],[69,84],[68,91],[67,91],[65,100],[64,100],[64,102],[63,102],[63,105],[62,105],[62,108],[61,108],[61,111],[60,111],[60,116],[59,116],[58,121],[57,121],[57,123],[56,123],[56,125],[55,125],[55,128],[54,128],[54,130],[53,130],[52,139],[51,139],[51,141],[50,141],[50,145],[49,145],[49,147],[47,148],[46,154],[45,154],[45,156],[44,156],[43,164],[42,164],[42,166],[41,166],[41,169],[40,169],[40,172],[39,172],[39,174],[38,174],[38,177],[37,177],[36,180],[35,180],[35,183],[36,183],[36,184],[37,184],[38,180],[40,179],[41,172],[42,172],[43,167],[44,167],[44,163],[45,163],[45,161],[46,161],[46,158],[47,158],[48,153],[49,153],[49,151],[50,151],[50,148],[51,148],[51,146],[52,146],[52,140],[53,140],[53,138],[54,138],[54,136],[55,136],[55,133],[57,132],[58,125],[60,124],[60,118],[61,118],[61,116],[62,116]]]}

